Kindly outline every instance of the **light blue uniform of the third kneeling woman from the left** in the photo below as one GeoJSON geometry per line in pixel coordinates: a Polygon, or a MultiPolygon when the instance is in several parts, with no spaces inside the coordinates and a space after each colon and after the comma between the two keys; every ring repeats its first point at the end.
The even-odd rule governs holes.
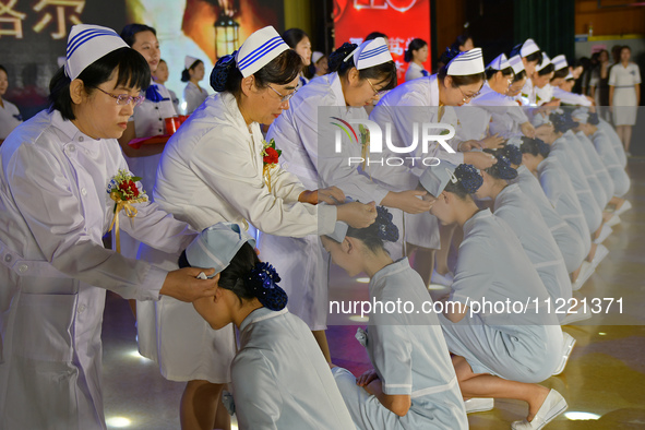
{"type": "MultiPolygon", "coordinates": [[[[526,313],[466,314],[457,323],[440,315],[451,353],[468,361],[475,373],[537,383],[549,378],[562,355],[562,330],[547,312],[549,294],[511,227],[490,210],[464,224],[451,301],[529,302],[526,313]],[[535,303],[539,310],[535,310],[535,303]]],[[[470,311],[470,308],[469,308],[470,311]]]]}

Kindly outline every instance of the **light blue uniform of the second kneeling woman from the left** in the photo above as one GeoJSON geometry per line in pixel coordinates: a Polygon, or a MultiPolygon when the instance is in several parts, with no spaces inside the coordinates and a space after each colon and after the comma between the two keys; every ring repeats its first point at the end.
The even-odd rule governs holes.
{"type": "MultiPolygon", "coordinates": [[[[431,302],[423,280],[407,259],[392,263],[370,280],[370,298],[379,301],[410,301],[420,311],[431,302]]],[[[386,409],[379,399],[356,385],[356,378],[334,368],[334,378],[349,414],[360,430],[467,429],[468,420],[457,378],[434,313],[372,313],[367,333],[359,342],[385,394],[407,394],[411,406],[404,417],[386,409]]]]}

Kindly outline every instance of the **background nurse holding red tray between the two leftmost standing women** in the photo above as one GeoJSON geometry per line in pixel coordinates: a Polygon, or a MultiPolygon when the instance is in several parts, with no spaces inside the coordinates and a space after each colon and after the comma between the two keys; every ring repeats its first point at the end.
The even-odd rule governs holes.
{"type": "MultiPolygon", "coordinates": [[[[157,32],[153,27],[143,24],[129,24],[121,31],[121,37],[147,60],[151,73],[157,70],[162,53],[157,32]]],[[[152,192],[155,186],[157,167],[166,143],[144,144],[139,150],[128,143],[135,138],[165,134],[166,118],[176,116],[177,112],[168,89],[151,79],[151,84],[145,92],[145,100],[134,109],[134,115],[128,122],[128,129],[119,139],[128,166],[142,178],[143,188],[148,192],[152,192]]],[[[151,195],[151,198],[153,196],[151,195]]]]}

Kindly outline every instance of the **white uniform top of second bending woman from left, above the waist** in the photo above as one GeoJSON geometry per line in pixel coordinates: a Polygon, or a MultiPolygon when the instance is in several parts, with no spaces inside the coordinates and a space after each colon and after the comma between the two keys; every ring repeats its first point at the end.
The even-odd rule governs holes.
{"type": "Polygon", "coordinates": [[[282,168],[263,178],[260,126],[247,126],[229,93],[208,96],[170,138],[157,172],[155,201],[196,229],[217,222],[302,237],[334,230],[336,208],[299,203],[304,188],[282,168]]]}

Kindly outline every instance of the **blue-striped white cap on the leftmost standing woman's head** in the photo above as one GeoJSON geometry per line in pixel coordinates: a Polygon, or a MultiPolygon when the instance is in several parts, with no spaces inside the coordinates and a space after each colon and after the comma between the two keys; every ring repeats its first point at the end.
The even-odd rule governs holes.
{"type": "Polygon", "coordinates": [[[68,37],[65,74],[73,81],[87,65],[120,48],[129,46],[114,29],[91,24],[74,25],[68,37]]]}

